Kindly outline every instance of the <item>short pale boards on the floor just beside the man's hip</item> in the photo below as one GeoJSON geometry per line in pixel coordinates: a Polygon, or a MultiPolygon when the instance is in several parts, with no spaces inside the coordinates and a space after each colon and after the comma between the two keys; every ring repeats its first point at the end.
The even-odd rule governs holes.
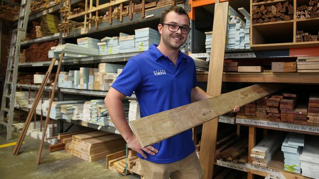
{"type": "Polygon", "coordinates": [[[126,157],[126,150],[106,156],[106,168],[126,175],[126,166],[128,172],[131,174],[141,175],[140,159],[137,157],[135,151],[128,149],[128,156],[126,157]]]}

